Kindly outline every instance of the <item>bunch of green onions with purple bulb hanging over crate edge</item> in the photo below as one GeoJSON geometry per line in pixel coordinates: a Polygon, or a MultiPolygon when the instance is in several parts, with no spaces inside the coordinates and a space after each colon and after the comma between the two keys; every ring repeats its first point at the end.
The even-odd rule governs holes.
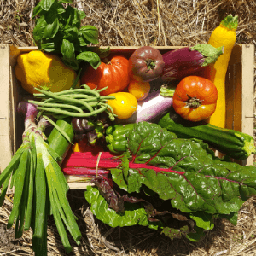
{"type": "Polygon", "coordinates": [[[25,114],[22,144],[9,165],[0,174],[0,206],[7,189],[15,188],[13,208],[7,228],[15,224],[15,237],[32,228],[32,249],[36,256],[47,255],[47,219],[53,215],[61,241],[67,253],[73,249],[67,230],[79,245],[81,232],[67,201],[67,180],[58,164],[60,157],[49,148],[44,130],[49,120],[36,121],[38,109],[20,102],[18,112],[25,114]]]}

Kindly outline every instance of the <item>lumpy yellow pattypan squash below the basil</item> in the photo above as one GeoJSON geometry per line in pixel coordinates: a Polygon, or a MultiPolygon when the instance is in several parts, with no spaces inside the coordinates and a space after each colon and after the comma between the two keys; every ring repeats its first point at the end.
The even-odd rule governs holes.
{"type": "Polygon", "coordinates": [[[53,92],[68,90],[73,85],[76,73],[58,56],[32,50],[18,56],[15,76],[24,90],[33,94],[38,92],[35,90],[37,87],[53,92]]]}

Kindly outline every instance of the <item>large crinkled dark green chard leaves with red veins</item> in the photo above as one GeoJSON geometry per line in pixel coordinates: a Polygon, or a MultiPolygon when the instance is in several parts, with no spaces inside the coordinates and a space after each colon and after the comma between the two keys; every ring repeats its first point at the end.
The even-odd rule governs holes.
{"type": "Polygon", "coordinates": [[[256,195],[256,167],[218,159],[200,140],[177,138],[147,122],[134,125],[126,138],[128,150],[119,166],[110,170],[113,188],[119,191],[112,193],[143,201],[133,200],[136,210],[125,203],[121,215],[109,209],[108,202],[96,194],[98,189],[93,190],[94,196],[89,189],[85,197],[92,212],[106,224],[123,226],[126,220],[119,216],[128,211],[129,216],[136,216],[137,224],[135,212],[142,214],[140,220],[147,224],[145,213],[138,211],[140,207],[148,214],[148,227],[154,223],[154,229],[165,236],[199,241],[204,230],[213,229],[216,217],[236,224],[236,212],[256,195]]]}

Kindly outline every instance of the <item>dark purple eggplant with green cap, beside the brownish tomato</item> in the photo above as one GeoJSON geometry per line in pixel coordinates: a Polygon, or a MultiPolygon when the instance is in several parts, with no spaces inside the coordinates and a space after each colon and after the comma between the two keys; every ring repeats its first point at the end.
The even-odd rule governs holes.
{"type": "Polygon", "coordinates": [[[164,81],[183,79],[217,61],[224,54],[224,46],[215,48],[211,44],[174,49],[163,54],[165,67],[161,74],[164,81]]]}

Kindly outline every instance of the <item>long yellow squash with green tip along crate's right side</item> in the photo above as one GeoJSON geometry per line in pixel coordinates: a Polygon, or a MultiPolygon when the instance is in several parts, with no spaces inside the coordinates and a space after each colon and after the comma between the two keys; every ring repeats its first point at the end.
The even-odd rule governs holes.
{"type": "Polygon", "coordinates": [[[238,17],[228,15],[221,21],[220,25],[212,32],[208,44],[214,47],[224,46],[224,54],[218,60],[206,68],[205,77],[210,79],[218,90],[218,101],[215,112],[207,119],[211,125],[225,127],[226,104],[225,104],[225,76],[227,73],[230,55],[236,43],[236,28],[238,17]]]}

